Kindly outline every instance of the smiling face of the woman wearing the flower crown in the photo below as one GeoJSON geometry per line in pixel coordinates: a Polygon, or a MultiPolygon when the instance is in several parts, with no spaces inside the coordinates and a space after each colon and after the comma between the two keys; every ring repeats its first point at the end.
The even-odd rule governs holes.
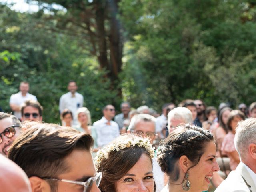
{"type": "Polygon", "coordinates": [[[138,162],[116,182],[117,192],[153,192],[154,179],[152,162],[146,154],[140,156],[138,162]]]}

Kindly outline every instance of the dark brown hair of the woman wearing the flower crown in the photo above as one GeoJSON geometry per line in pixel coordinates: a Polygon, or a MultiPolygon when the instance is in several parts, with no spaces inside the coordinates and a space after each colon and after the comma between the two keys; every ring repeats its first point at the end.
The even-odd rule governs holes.
{"type": "MultiPolygon", "coordinates": [[[[138,138],[138,136],[122,134],[113,143],[120,140],[125,142],[125,140],[132,140],[133,138],[138,138]]],[[[148,155],[152,164],[152,158],[144,147],[131,146],[119,151],[114,150],[110,152],[108,158],[102,160],[98,168],[98,172],[102,172],[100,190],[102,192],[116,192],[115,183],[136,164],[142,154],[148,155]]]]}

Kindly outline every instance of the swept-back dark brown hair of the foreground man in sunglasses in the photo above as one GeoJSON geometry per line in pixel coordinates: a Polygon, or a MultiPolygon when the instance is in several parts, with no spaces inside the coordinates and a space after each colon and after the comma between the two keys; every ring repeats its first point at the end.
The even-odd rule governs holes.
{"type": "MultiPolygon", "coordinates": [[[[22,129],[24,132],[14,141],[8,158],[28,177],[58,177],[68,169],[64,161],[66,156],[74,149],[90,150],[93,145],[89,134],[57,124],[25,122],[22,129]]],[[[47,182],[54,191],[55,181],[47,182]]]]}

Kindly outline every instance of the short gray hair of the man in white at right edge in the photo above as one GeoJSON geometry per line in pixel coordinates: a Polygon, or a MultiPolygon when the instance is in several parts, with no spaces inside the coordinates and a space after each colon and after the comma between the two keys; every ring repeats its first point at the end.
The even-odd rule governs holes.
{"type": "Polygon", "coordinates": [[[247,158],[248,146],[256,144],[256,118],[248,118],[238,123],[234,138],[240,158],[247,158]]]}

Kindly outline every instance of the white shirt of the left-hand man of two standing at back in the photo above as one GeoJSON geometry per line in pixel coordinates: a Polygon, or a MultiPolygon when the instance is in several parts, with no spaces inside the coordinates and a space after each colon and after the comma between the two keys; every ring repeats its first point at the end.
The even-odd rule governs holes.
{"type": "MultiPolygon", "coordinates": [[[[21,92],[18,92],[16,94],[11,95],[9,103],[10,104],[16,104],[16,105],[20,106],[22,103],[24,103],[27,100],[37,101],[37,98],[36,98],[36,96],[34,96],[30,93],[27,93],[26,96],[23,96],[21,94],[21,92]]],[[[14,111],[14,115],[19,119],[21,118],[21,112],[20,111],[19,112],[14,111]]]]}

